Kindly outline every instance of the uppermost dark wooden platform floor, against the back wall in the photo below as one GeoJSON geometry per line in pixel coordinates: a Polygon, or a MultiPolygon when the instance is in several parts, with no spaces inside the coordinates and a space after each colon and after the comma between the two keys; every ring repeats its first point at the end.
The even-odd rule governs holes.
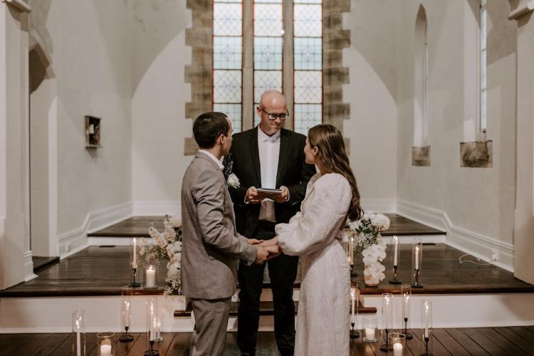
{"type": "MultiPolygon", "coordinates": [[[[384,236],[406,236],[406,235],[443,235],[439,231],[419,224],[416,221],[405,218],[398,214],[386,214],[391,224],[389,230],[384,232],[384,236]]],[[[95,231],[88,236],[105,236],[105,237],[149,237],[148,228],[154,224],[159,231],[163,229],[163,216],[133,216],[130,219],[120,221],[117,224],[108,226],[105,229],[95,231]]]]}

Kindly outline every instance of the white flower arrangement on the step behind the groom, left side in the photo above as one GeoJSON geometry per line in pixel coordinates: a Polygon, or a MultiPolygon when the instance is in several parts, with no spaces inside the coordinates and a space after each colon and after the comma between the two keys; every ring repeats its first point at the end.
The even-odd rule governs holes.
{"type": "MultiPolygon", "coordinates": [[[[164,230],[157,231],[154,226],[150,226],[148,234],[156,242],[152,248],[147,248],[147,255],[156,259],[167,259],[167,287],[164,295],[181,294],[182,273],[180,263],[182,262],[182,219],[178,215],[165,215],[163,221],[164,230]]],[[[140,256],[143,253],[140,252],[140,256]]]]}

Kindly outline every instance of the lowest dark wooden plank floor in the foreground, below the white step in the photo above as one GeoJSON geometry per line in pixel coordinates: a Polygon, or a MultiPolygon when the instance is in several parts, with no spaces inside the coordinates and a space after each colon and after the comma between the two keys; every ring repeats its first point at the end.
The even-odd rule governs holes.
{"type": "MultiPolygon", "coordinates": [[[[407,344],[406,355],[419,355],[420,342],[416,336],[407,344]]],[[[160,355],[189,355],[190,333],[164,333],[163,341],[157,342],[160,355]]],[[[133,342],[116,342],[115,356],[143,355],[147,350],[145,334],[134,334],[133,342]]],[[[0,335],[0,356],[4,355],[71,355],[70,334],[4,334],[0,335]]],[[[379,350],[382,342],[351,340],[350,355],[386,355],[379,350]]],[[[97,355],[95,334],[87,335],[87,355],[97,355]]],[[[534,355],[534,327],[436,329],[434,330],[434,355],[534,355]]],[[[236,333],[228,333],[224,355],[239,356],[236,333]]],[[[258,356],[278,355],[274,334],[259,333],[258,356]]],[[[335,355],[333,355],[335,356],[335,355]]]]}

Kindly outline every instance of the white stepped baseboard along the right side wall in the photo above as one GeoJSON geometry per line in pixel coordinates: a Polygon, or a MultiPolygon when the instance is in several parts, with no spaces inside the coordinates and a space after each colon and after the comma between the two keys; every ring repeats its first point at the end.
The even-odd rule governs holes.
{"type": "Polygon", "coordinates": [[[421,224],[434,227],[434,229],[446,231],[445,243],[447,245],[513,272],[514,248],[512,244],[454,226],[444,211],[409,201],[397,201],[397,213],[421,224]],[[492,261],[493,252],[496,252],[496,261],[492,261]]]}

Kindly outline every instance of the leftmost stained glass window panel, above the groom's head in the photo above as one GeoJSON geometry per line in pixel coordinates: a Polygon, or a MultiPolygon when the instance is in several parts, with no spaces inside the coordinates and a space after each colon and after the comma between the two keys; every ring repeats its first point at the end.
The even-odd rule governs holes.
{"type": "Polygon", "coordinates": [[[243,4],[215,0],[213,4],[213,110],[224,112],[234,132],[242,127],[243,4]]]}

